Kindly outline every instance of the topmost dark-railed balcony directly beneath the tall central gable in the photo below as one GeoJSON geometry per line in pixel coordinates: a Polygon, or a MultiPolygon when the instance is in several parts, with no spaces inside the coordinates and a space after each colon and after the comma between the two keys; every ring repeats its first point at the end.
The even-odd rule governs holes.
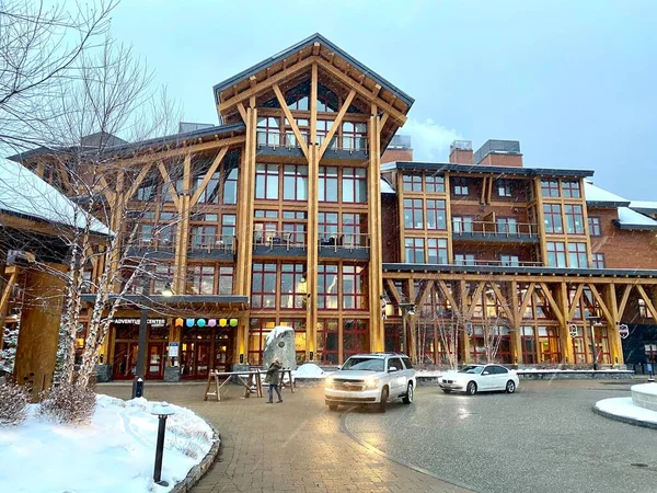
{"type": "MultiPolygon", "coordinates": [[[[303,157],[297,136],[292,130],[281,134],[278,130],[257,130],[258,156],[303,157]]],[[[301,131],[303,140],[308,144],[310,137],[307,131],[301,131]]],[[[324,159],[366,159],[369,156],[366,136],[334,136],[331,146],[324,153],[324,159]]],[[[318,144],[324,142],[324,136],[318,135],[318,144]]]]}

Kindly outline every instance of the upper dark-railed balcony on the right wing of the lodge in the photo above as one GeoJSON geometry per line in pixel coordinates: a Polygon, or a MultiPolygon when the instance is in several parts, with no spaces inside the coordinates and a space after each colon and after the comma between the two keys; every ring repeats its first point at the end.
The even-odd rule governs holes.
{"type": "Polygon", "coordinates": [[[453,241],[539,243],[539,227],[529,222],[452,221],[453,241]]]}

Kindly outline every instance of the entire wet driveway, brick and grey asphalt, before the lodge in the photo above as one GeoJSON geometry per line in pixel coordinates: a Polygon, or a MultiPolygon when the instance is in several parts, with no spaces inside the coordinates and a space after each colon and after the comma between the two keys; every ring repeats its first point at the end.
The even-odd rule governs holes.
{"type": "MultiPolygon", "coordinates": [[[[146,397],[189,408],[220,431],[220,460],[198,493],[653,492],[657,432],[591,412],[629,389],[530,381],[514,395],[465,397],[420,388],[413,405],[387,414],[330,412],[319,388],[286,389],[281,404],[244,399],[238,387],[204,402],[199,383],[153,383],[146,397]]],[[[97,391],[127,399],[130,387],[97,391]]]]}

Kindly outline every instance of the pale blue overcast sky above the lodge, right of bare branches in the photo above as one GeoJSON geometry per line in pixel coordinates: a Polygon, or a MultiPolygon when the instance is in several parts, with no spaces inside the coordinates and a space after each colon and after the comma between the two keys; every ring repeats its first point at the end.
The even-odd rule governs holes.
{"type": "Polygon", "coordinates": [[[319,32],[415,99],[416,160],[519,140],[526,167],[657,200],[654,0],[123,0],[112,32],[187,122],[216,124],[214,84],[319,32]]]}

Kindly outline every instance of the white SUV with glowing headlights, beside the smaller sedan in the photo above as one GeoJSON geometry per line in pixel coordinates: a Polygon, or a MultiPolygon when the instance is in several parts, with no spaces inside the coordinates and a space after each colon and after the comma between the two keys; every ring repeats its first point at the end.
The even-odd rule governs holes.
{"type": "Polygon", "coordinates": [[[376,404],[385,412],[391,399],[413,402],[415,370],[408,356],[394,353],[358,354],[326,377],[324,400],[328,409],[338,405],[376,404]]]}

